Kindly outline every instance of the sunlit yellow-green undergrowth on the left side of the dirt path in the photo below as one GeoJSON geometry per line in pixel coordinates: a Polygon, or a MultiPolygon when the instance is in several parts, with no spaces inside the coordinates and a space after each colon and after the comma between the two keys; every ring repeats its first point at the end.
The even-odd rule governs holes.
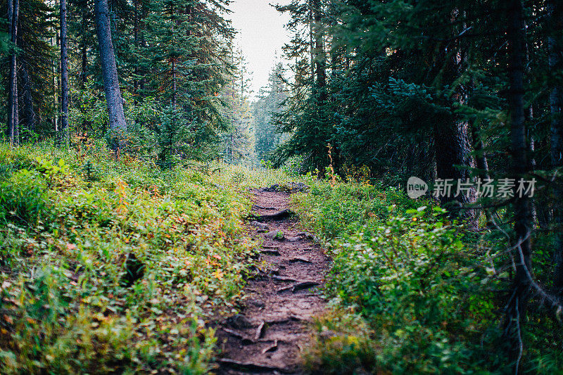
{"type": "Polygon", "coordinates": [[[235,311],[253,263],[248,188],[285,179],[0,145],[0,373],[210,371],[206,323],[235,311]]]}

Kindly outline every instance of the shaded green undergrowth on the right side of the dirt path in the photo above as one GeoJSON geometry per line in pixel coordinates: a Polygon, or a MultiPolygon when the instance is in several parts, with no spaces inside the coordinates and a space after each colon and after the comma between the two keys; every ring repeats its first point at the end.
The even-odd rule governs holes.
{"type": "MultiPolygon", "coordinates": [[[[512,371],[498,339],[498,290],[507,286],[507,273],[495,272],[482,241],[467,236],[431,202],[393,188],[309,184],[310,193],[294,195],[293,205],[334,263],[327,284],[332,308],[315,324],[304,354],[308,371],[512,371]]],[[[562,368],[560,354],[538,362],[532,352],[524,353],[528,371],[562,368]]]]}

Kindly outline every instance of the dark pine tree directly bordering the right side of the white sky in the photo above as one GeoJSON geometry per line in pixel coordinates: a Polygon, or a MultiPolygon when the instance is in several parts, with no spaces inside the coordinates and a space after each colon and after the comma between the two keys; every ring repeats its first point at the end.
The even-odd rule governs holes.
{"type": "MultiPolygon", "coordinates": [[[[284,47],[284,52],[288,60],[295,61],[296,78],[291,97],[286,101],[286,112],[277,116],[281,131],[292,136],[277,151],[275,165],[291,155],[304,155],[305,169],[317,169],[321,174],[331,163],[328,146],[334,146],[324,46],[326,9],[326,4],[320,0],[293,0],[287,6],[277,6],[278,11],[291,15],[287,27],[294,37],[284,47]]],[[[338,151],[334,155],[338,155],[338,151]]]]}

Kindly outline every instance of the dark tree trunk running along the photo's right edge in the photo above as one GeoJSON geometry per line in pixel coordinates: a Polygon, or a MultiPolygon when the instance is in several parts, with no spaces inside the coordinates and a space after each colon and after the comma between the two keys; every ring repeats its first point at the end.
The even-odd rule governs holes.
{"type": "MultiPolygon", "coordinates": [[[[555,75],[563,68],[561,54],[563,53],[562,38],[560,36],[563,27],[563,6],[560,1],[552,0],[548,4],[550,13],[550,27],[548,37],[549,56],[548,63],[550,72],[555,75]]],[[[555,81],[555,87],[550,92],[551,110],[551,165],[559,176],[563,171],[563,84],[560,79],[555,81]]],[[[555,179],[553,186],[554,207],[553,224],[555,232],[555,280],[554,287],[563,296],[563,179],[555,179]]]]}

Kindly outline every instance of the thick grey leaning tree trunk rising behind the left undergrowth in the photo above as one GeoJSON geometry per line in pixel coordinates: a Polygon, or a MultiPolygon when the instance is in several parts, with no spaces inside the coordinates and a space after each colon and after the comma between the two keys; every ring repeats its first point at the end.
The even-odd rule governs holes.
{"type": "MultiPolygon", "coordinates": [[[[111,41],[108,0],[95,0],[94,13],[96,15],[96,32],[98,34],[103,89],[106,92],[110,130],[117,136],[123,136],[127,131],[127,124],[125,123],[118,69],[115,65],[115,54],[111,41]]],[[[118,142],[118,147],[120,147],[120,144],[121,141],[118,142]]]]}

